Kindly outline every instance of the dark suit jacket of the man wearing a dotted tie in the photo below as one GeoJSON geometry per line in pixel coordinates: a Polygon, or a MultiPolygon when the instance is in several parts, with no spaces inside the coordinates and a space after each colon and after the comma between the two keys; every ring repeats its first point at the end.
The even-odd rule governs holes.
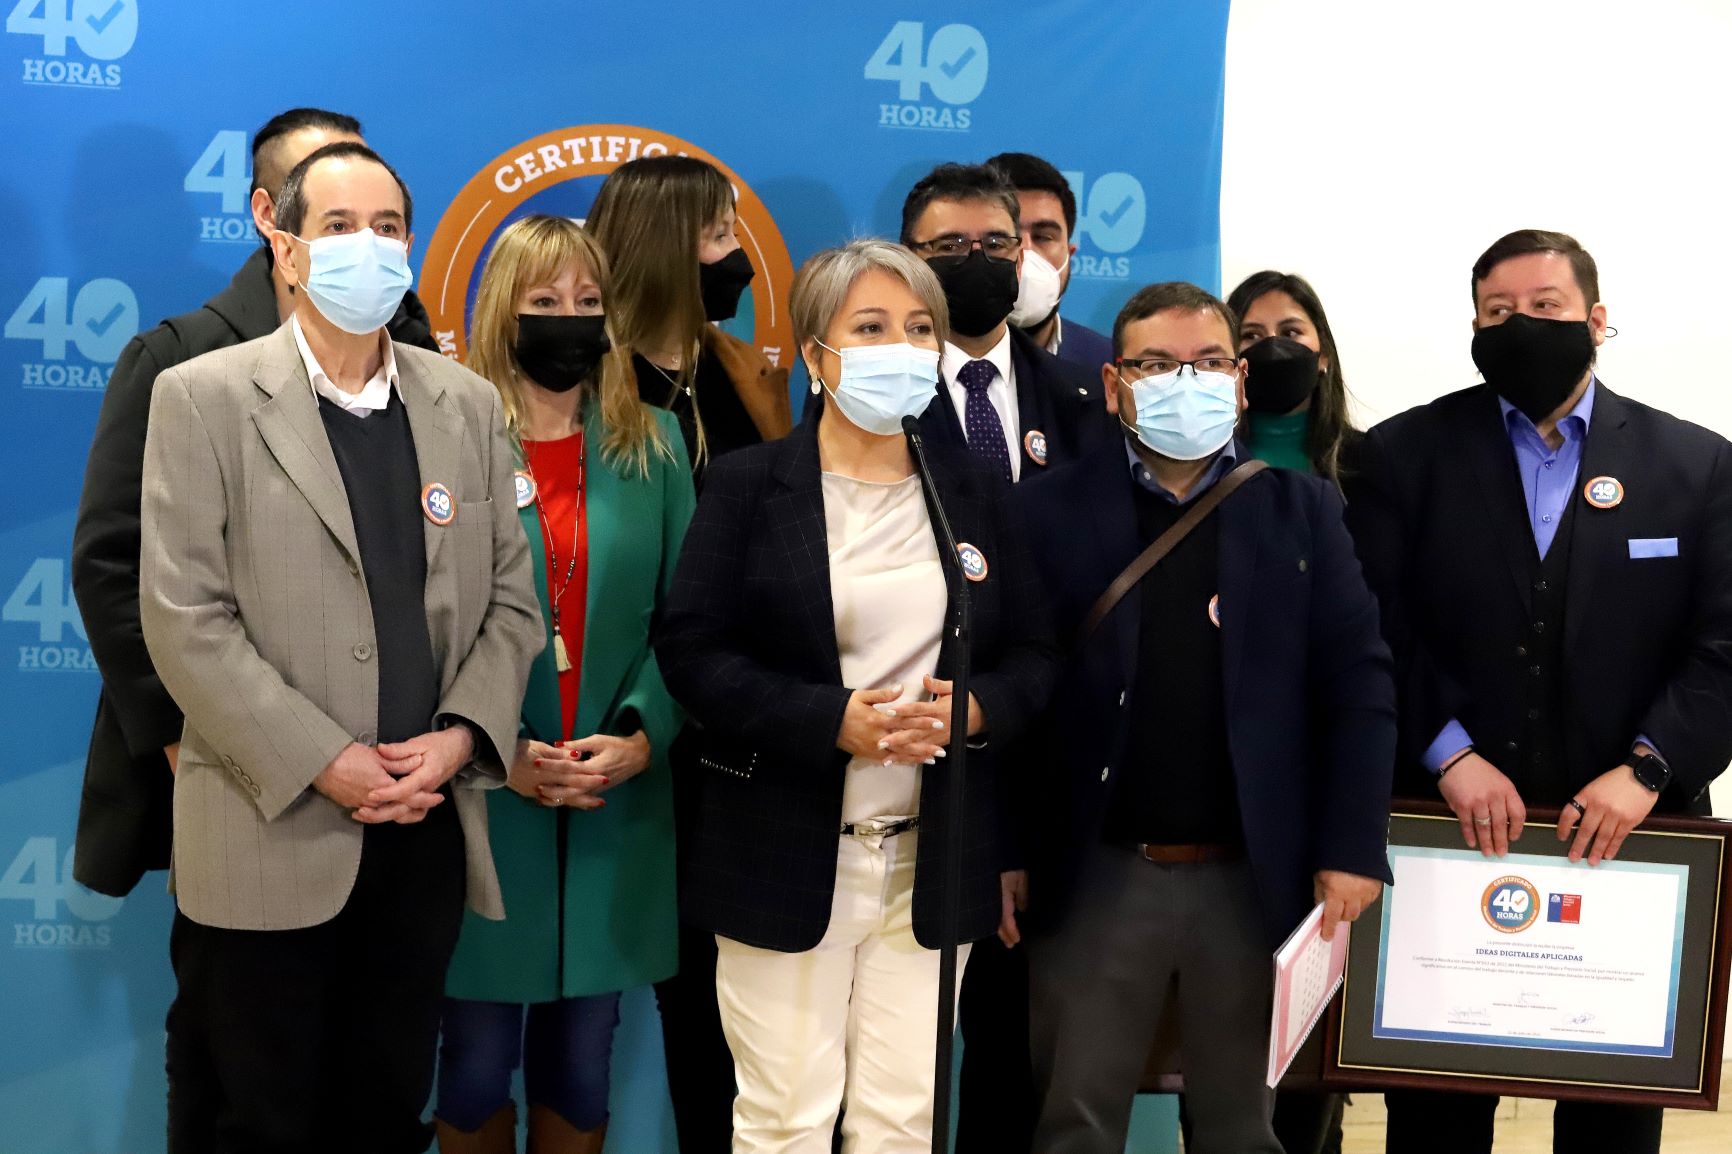
{"type": "MultiPolygon", "coordinates": [[[[1022,426],[1018,444],[1010,451],[1022,454],[1022,480],[1076,461],[1114,435],[1115,426],[1100,393],[1100,371],[1086,373],[1060,360],[1017,326],[1010,326],[1010,367],[1017,376],[1017,421],[1022,426]],[[1044,464],[1029,452],[1031,431],[1046,435],[1044,464]]],[[[949,386],[942,379],[932,405],[920,416],[920,428],[928,444],[968,445],[949,386]]]]}

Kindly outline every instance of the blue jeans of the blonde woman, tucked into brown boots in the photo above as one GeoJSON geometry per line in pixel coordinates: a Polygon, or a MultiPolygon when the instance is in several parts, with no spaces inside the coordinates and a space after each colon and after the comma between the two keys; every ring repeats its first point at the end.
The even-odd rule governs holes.
{"type": "Polygon", "coordinates": [[[528,1007],[445,998],[433,1112],[457,1130],[480,1130],[511,1102],[511,1074],[521,1060],[530,1105],[544,1105],[578,1130],[596,1130],[608,1121],[618,1024],[617,993],[528,1007]]]}

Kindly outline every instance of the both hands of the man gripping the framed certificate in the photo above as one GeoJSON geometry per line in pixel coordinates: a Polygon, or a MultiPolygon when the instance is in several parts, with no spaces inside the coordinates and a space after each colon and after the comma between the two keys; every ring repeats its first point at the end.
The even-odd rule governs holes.
{"type": "MultiPolygon", "coordinates": [[[[1638,747],[1637,752],[1644,749],[1638,747]]],[[[1438,780],[1438,790],[1462,823],[1462,840],[1469,849],[1502,858],[1510,842],[1521,837],[1528,806],[1516,783],[1479,754],[1467,754],[1455,762],[1438,780]]],[[[1581,809],[1564,806],[1557,820],[1557,840],[1567,842],[1574,835],[1569,859],[1581,861],[1587,856],[1588,865],[1599,865],[1618,856],[1625,839],[1647,818],[1659,795],[1637,781],[1630,766],[1616,766],[1576,790],[1574,801],[1581,802],[1581,809]]]]}

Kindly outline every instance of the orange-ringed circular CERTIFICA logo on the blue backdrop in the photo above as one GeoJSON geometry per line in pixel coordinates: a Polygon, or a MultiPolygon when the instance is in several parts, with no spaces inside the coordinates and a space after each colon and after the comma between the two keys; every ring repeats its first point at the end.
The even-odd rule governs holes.
{"type": "Polygon", "coordinates": [[[695,156],[715,165],[734,185],[740,244],[757,274],[740,312],[722,327],[755,345],[771,364],[793,352],[788,286],[793,260],[788,244],[734,170],[696,144],[636,125],[573,125],[514,144],[487,163],[452,199],[433,229],[421,263],[421,303],[433,321],[440,352],[462,359],[476,276],[494,237],[520,217],[547,213],[584,220],[608,173],[641,156],[695,156]]]}

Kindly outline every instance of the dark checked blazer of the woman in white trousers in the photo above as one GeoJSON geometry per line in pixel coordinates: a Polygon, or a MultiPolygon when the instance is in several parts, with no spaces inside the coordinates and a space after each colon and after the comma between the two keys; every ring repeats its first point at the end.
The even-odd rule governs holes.
{"type": "MultiPolygon", "coordinates": [[[[778,442],[710,466],[655,634],[662,676],[703,728],[703,809],[681,880],[688,922],[766,950],[811,950],[830,925],[842,783],[842,684],[818,466],[821,404],[778,442]]],[[[956,539],[987,558],[973,582],[972,691],[986,743],[968,750],[961,816],[961,932],[999,920],[1005,865],[996,813],[999,755],[1051,691],[1055,653],[1039,582],[1010,516],[1008,487],[947,445],[927,445],[956,539]]],[[[944,549],[940,542],[940,551],[944,549]]],[[[960,577],[946,561],[946,580],[960,577]]],[[[954,664],[939,652],[939,676],[954,664]]],[[[939,946],[946,762],[921,775],[914,937],[939,946]]]]}

